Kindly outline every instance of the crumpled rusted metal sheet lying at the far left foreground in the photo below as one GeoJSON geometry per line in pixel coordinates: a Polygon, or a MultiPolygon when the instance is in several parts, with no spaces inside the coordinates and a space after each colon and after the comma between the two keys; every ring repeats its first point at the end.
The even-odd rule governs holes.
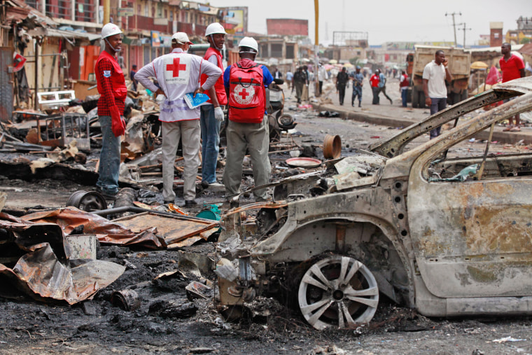
{"type": "Polygon", "coordinates": [[[7,232],[1,241],[2,251],[13,255],[15,246],[22,251],[12,268],[0,264],[1,295],[15,297],[17,293],[10,287],[15,286],[36,300],[51,298],[73,305],[109,286],[125,270],[122,265],[92,259],[70,265],[59,225],[23,221],[8,214],[0,214],[0,218],[1,228],[7,232]]]}

